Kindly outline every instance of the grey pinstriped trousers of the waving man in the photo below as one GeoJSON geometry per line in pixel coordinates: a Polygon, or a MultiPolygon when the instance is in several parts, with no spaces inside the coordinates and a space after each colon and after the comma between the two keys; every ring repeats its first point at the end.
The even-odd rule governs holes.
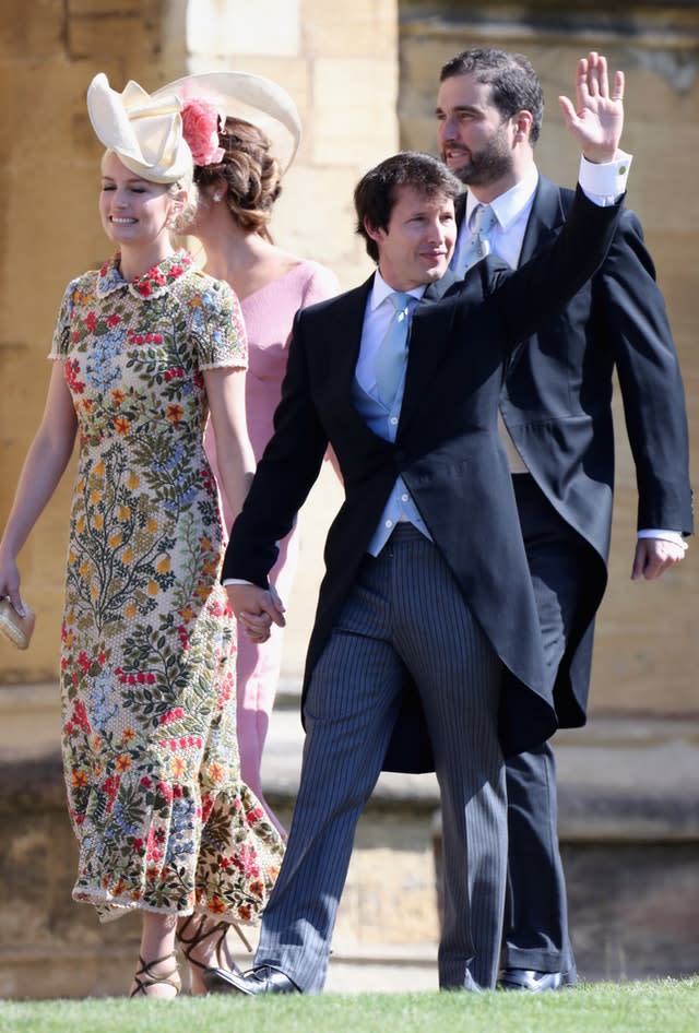
{"type": "MultiPolygon", "coordinates": [[[[441,987],[493,987],[507,868],[501,665],[437,548],[399,525],[367,556],[312,673],[300,785],[256,964],[303,990],[324,984],[359,815],[374,789],[406,670],[433,741],[443,823],[441,987]]],[[[388,883],[392,872],[387,870],[388,883]]]]}

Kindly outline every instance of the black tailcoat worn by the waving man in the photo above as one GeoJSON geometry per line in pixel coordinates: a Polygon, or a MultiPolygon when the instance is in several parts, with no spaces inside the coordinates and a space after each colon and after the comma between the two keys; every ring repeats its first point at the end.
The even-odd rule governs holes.
{"type": "MultiPolygon", "coordinates": [[[[268,585],[276,542],[291,530],[332,446],[345,499],[325,543],[305,689],[400,474],[510,673],[500,704],[505,752],[520,752],[556,729],[497,408],[510,353],[594,273],[620,212],[621,204],[600,207],[578,189],[565,227],[531,262],[513,271],[489,256],[465,280],[447,273],[427,288],[412,319],[394,443],[369,429],[352,400],[371,278],[296,314],[274,434],[232,530],[222,578],[268,585]]],[[[407,674],[404,689],[384,768],[428,771],[430,745],[407,674]]],[[[464,744],[467,736],[464,729],[464,744]]]]}

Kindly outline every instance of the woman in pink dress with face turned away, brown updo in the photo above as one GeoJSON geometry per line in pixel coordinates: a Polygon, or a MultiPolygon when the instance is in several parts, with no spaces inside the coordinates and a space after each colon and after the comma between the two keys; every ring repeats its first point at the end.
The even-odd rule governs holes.
{"type": "MultiPolygon", "coordinates": [[[[272,417],[286,370],[288,337],[299,308],[339,292],[333,273],[277,247],[270,234],[282,175],[294,158],[300,123],[291,97],[276,84],[244,72],[212,72],[169,83],[185,102],[183,132],[194,157],[200,202],[189,233],[205,251],[205,271],[228,283],[242,307],[248,336],[246,379],[248,432],[256,461],[272,436],[272,417]]],[[[215,441],[205,438],[217,472],[215,441]]],[[[226,526],[230,513],[224,500],[226,526]]],[[[288,598],[298,535],[280,543],[271,580],[288,598]]],[[[283,636],[275,629],[258,644],[240,634],[237,656],[238,747],[244,782],[270,819],[283,827],[264,799],[260,767],[274,704],[283,636]]]]}

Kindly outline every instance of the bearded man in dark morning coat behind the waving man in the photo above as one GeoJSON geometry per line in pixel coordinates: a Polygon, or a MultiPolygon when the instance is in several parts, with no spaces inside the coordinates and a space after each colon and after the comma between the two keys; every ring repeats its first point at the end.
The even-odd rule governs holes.
{"type": "MultiPolygon", "coordinates": [[[[517,268],[561,231],[572,191],[537,171],[533,149],[543,111],[541,84],[522,55],[466,50],[442,68],[439,144],[447,166],[469,187],[457,206],[457,275],[486,252],[517,268]],[[487,233],[472,222],[483,224],[485,212],[487,233]]],[[[607,579],[615,369],[639,488],[632,578],[654,579],[683,558],[683,533],[692,530],[687,421],[665,306],[630,211],[593,280],[511,355],[500,397],[561,727],[585,722],[594,615],[607,579]]],[[[544,739],[508,758],[507,788],[500,984],[555,989],[577,975],[558,848],[555,760],[544,739]]]]}

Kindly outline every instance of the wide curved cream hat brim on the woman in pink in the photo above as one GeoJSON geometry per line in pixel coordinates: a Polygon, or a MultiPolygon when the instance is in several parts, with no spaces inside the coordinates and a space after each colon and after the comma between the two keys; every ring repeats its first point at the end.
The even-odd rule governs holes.
{"type": "Polygon", "coordinates": [[[152,96],[165,98],[173,94],[183,105],[188,100],[203,100],[222,116],[257,126],[269,138],[282,171],[294,161],[301,139],[301,121],[287,92],[271,79],[252,72],[201,72],[176,79],[152,96]]]}

